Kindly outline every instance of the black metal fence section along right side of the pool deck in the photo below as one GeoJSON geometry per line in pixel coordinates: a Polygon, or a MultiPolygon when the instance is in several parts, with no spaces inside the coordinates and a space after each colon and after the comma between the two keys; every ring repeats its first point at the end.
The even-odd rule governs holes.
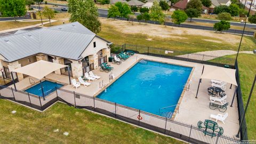
{"type": "Polygon", "coordinates": [[[237,94],[237,105],[238,105],[238,114],[239,114],[239,124],[241,125],[241,139],[242,140],[248,140],[247,136],[247,125],[246,125],[246,120],[244,118],[243,123],[242,117],[244,115],[244,102],[243,102],[243,97],[242,97],[242,90],[241,90],[241,85],[240,85],[240,78],[239,78],[239,68],[238,68],[238,62],[236,61],[235,63],[235,69],[236,69],[236,81],[237,81],[237,89],[236,89],[236,94],[237,94]]]}

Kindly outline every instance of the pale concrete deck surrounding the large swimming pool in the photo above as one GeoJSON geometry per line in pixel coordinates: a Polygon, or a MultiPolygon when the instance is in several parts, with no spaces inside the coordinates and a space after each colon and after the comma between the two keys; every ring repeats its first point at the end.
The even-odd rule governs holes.
{"type": "MultiPolygon", "coordinates": [[[[141,55],[141,54],[134,54],[133,57],[122,62],[121,65],[115,65],[115,64],[109,63],[111,67],[114,67],[114,70],[112,71],[114,75],[114,79],[110,81],[109,81],[110,73],[101,72],[99,68],[93,70],[93,73],[95,75],[101,76],[101,78],[98,79],[97,81],[93,81],[93,82],[91,81],[90,86],[85,87],[84,85],[81,85],[80,87],[78,87],[78,89],[75,89],[75,87],[72,87],[72,85],[69,85],[68,76],[51,73],[47,75],[46,78],[51,79],[52,81],[55,81],[55,82],[65,84],[62,87],[62,89],[75,91],[76,93],[81,93],[85,95],[90,95],[91,97],[93,96],[95,97],[95,95],[105,90],[107,86],[113,83],[118,77],[122,76],[122,74],[124,74],[133,65],[135,65],[135,63],[137,63],[139,59],[142,59],[142,58],[194,68],[193,73],[191,74],[191,77],[190,77],[190,81],[191,81],[190,89],[185,91],[183,98],[180,100],[180,103],[178,103],[180,105],[179,113],[175,115],[174,117],[175,121],[197,125],[198,121],[204,121],[205,119],[210,119],[210,114],[217,115],[217,114],[228,113],[228,117],[225,120],[225,124],[222,124],[222,122],[218,121],[218,125],[223,127],[225,135],[233,137],[237,133],[237,130],[239,127],[239,121],[238,121],[238,109],[237,109],[236,98],[234,100],[233,107],[228,106],[228,109],[225,113],[221,113],[218,109],[215,109],[215,110],[210,109],[209,108],[210,96],[207,93],[207,88],[210,87],[211,84],[210,84],[210,80],[207,80],[207,79],[202,79],[202,83],[200,85],[199,92],[198,92],[198,98],[197,99],[195,98],[199,78],[202,74],[202,69],[203,69],[203,65],[199,63],[158,58],[158,57],[152,57],[152,56],[141,55]],[[102,86],[102,81],[103,81],[103,86],[102,86]]],[[[34,79],[35,82],[39,81],[38,79],[35,79],[33,77],[26,77],[25,79],[23,79],[22,81],[16,84],[17,89],[24,90],[27,87],[31,86],[31,84],[29,83],[29,78],[34,79]]],[[[78,79],[76,80],[78,82],[78,79]]],[[[231,103],[231,100],[233,98],[233,94],[235,91],[235,86],[232,86],[232,89],[229,89],[230,87],[229,84],[227,84],[226,86],[227,86],[226,100],[227,102],[231,103]]],[[[13,85],[11,85],[11,87],[13,87],[13,85]]],[[[218,102],[215,102],[215,103],[218,103],[218,102]]]]}

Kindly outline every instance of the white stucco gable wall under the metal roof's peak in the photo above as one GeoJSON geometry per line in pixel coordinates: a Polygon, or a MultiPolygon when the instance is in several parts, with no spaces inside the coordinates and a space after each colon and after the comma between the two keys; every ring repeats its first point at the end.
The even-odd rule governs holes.
{"type": "Polygon", "coordinates": [[[102,39],[98,37],[94,37],[92,39],[92,42],[87,46],[87,48],[84,50],[84,52],[81,54],[82,57],[86,57],[88,55],[94,55],[97,54],[98,51],[101,49],[108,48],[107,42],[103,41],[102,39]],[[96,47],[93,47],[93,42],[96,42],[96,47]]]}

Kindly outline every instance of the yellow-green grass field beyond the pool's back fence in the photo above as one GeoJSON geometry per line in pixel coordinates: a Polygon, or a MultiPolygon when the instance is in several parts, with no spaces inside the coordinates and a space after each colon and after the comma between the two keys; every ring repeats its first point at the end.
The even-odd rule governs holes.
{"type": "MultiPolygon", "coordinates": [[[[147,26],[145,26],[147,27],[147,26]]],[[[158,26],[161,27],[161,26],[158,26]]],[[[182,51],[183,53],[194,53],[200,51],[211,51],[211,50],[237,50],[237,44],[230,44],[225,42],[225,39],[222,43],[215,43],[204,41],[203,39],[212,39],[221,41],[220,37],[209,37],[209,36],[201,36],[201,35],[177,35],[179,37],[183,37],[185,39],[179,38],[162,38],[162,37],[150,37],[151,41],[148,41],[148,35],[143,34],[128,34],[122,33],[121,30],[116,29],[114,26],[108,25],[106,23],[102,23],[102,28],[99,36],[108,39],[108,41],[113,42],[114,44],[137,44],[137,45],[145,45],[150,47],[161,47],[174,51],[182,51]]],[[[175,35],[172,35],[175,36],[175,35]]],[[[252,51],[256,44],[253,42],[251,37],[244,37],[244,43],[241,46],[242,51],[252,51]]]]}

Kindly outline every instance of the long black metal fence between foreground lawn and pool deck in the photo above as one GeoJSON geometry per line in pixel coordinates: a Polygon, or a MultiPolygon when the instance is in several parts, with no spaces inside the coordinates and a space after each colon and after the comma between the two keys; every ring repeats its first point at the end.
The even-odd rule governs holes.
{"type": "Polygon", "coordinates": [[[75,108],[93,110],[191,143],[217,144],[240,142],[226,135],[218,135],[218,133],[216,133],[216,137],[211,138],[209,135],[205,135],[202,130],[199,130],[197,126],[191,124],[173,121],[165,117],[147,113],[146,111],[63,89],[55,89],[43,99],[42,97],[27,92],[15,91],[10,87],[2,87],[0,90],[0,98],[19,102],[38,110],[44,110],[54,102],[62,101],[75,108]],[[138,116],[141,118],[138,118],[138,116]]]}

